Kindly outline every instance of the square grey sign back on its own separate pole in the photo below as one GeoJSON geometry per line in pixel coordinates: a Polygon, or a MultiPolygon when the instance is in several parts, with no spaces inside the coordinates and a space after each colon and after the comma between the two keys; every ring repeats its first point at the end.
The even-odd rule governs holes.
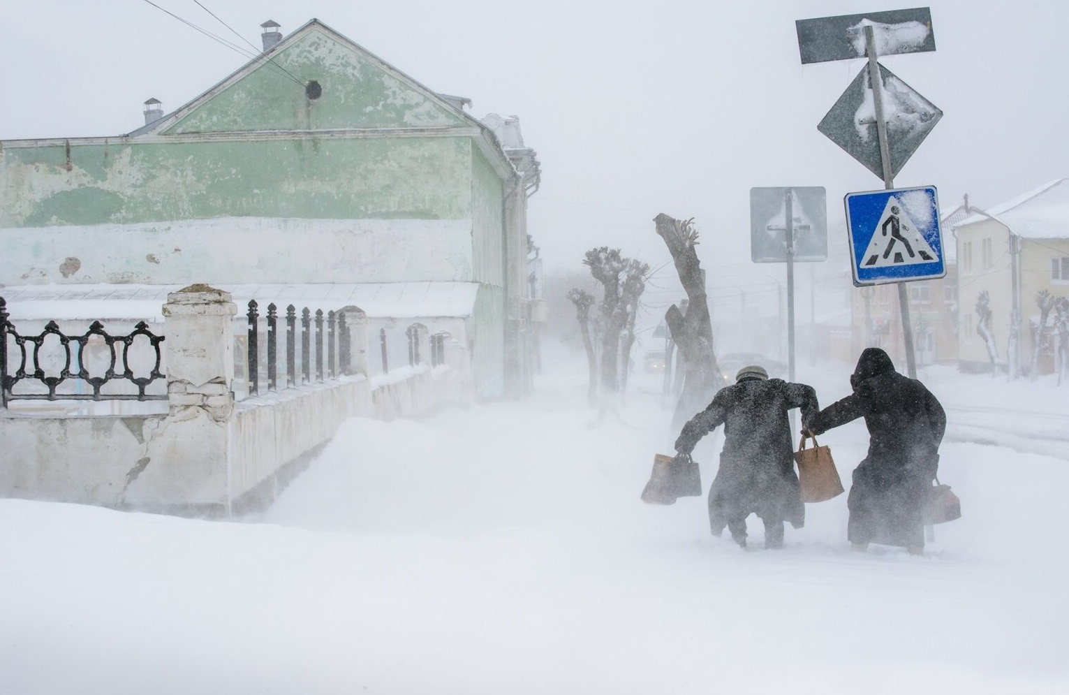
{"type": "Polygon", "coordinates": [[[788,204],[794,261],[826,261],[827,202],[823,186],[749,189],[750,260],[755,263],[787,262],[788,204]]]}

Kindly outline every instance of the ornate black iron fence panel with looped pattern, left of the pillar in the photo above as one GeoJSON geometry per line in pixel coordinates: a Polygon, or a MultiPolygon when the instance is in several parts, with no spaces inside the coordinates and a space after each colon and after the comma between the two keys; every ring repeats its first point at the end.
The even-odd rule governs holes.
{"type": "Polygon", "coordinates": [[[49,321],[40,334],[24,336],[9,319],[7,303],[0,297],[0,399],[4,406],[15,400],[167,400],[167,393],[146,392],[153,382],[164,379],[159,346],[164,336],[152,333],[145,322],[139,322],[125,336],[113,336],[104,329],[104,324],[94,321],[84,334],[69,336],[55,321],[49,321]],[[136,375],[131,366],[131,361],[144,361],[140,359],[144,353],[131,352],[136,341],[148,341],[152,350],[149,354],[154,354],[150,359],[152,367],[143,370],[142,376],[136,375]],[[57,369],[58,365],[61,366],[57,369]],[[46,391],[15,392],[20,383],[33,382],[46,391]],[[113,382],[131,384],[137,392],[103,392],[105,385],[113,382]],[[78,390],[79,384],[92,392],[78,390]]]}

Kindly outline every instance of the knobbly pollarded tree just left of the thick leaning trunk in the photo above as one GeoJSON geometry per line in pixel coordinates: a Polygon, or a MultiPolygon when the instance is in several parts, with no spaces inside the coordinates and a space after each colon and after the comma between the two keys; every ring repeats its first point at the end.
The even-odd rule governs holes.
{"type": "MultiPolygon", "coordinates": [[[[621,362],[626,366],[631,343],[625,343],[629,354],[622,354],[620,337],[637,312],[638,298],[646,289],[646,276],[650,266],[641,261],[623,258],[620,249],[607,246],[590,249],[583,263],[590,268],[603,289],[601,302],[602,318],[602,360],[601,360],[601,406],[616,407],[621,393],[621,362]]],[[[632,328],[633,330],[633,328],[632,328]]],[[[633,340],[632,340],[633,342],[633,340]]]]}

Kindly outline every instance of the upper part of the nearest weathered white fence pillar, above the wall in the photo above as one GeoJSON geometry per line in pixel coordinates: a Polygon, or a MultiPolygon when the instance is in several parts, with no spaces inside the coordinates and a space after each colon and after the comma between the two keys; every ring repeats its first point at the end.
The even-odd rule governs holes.
{"type": "Polygon", "coordinates": [[[167,295],[164,353],[172,416],[187,407],[201,407],[217,422],[230,417],[236,315],[230,293],[206,284],[167,295]]]}

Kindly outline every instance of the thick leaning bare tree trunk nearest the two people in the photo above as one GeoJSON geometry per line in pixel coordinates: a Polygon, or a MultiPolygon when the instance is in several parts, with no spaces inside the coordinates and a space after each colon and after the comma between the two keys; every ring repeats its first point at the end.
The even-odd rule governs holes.
{"type": "Polygon", "coordinates": [[[698,230],[694,220],[679,220],[662,213],[653,221],[657,234],[668,246],[687,297],[685,314],[676,305],[665,313],[671,339],[683,358],[683,392],[672,415],[672,429],[677,429],[709,404],[724,386],[724,375],[713,352],[713,324],[701,264],[695,250],[698,230]]]}

